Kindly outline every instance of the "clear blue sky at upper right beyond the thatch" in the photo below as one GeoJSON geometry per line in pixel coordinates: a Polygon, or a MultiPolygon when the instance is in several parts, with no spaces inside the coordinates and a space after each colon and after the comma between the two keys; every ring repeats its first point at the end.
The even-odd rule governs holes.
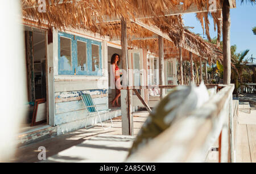
{"type": "MultiPolygon", "coordinates": [[[[190,29],[192,32],[203,34],[201,24],[195,16],[195,14],[183,15],[184,24],[185,26],[195,27],[190,29]]],[[[250,49],[247,57],[251,57],[251,54],[253,54],[253,57],[256,58],[256,35],[251,31],[253,27],[256,27],[256,5],[250,3],[241,5],[241,1],[238,0],[236,9],[230,10],[230,18],[230,45],[236,44],[237,52],[250,49]]],[[[204,36],[207,39],[207,36],[204,36]]],[[[214,32],[213,20],[210,18],[210,37],[215,36],[217,36],[217,32],[214,32]]]]}

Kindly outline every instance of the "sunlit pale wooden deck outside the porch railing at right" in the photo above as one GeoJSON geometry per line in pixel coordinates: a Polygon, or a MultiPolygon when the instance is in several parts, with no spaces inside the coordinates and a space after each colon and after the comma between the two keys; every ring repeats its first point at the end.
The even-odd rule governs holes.
{"type": "MultiPolygon", "coordinates": [[[[234,161],[237,163],[255,163],[256,162],[256,95],[240,95],[240,102],[249,102],[250,113],[244,109],[238,109],[235,113],[236,102],[233,100],[234,114],[234,161]]],[[[205,162],[218,162],[218,141],[213,145],[212,150],[208,152],[205,162]]]]}

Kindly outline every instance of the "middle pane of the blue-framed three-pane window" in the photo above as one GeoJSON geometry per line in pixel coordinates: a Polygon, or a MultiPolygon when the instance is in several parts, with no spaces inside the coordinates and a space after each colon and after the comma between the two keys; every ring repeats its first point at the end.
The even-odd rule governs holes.
{"type": "Polygon", "coordinates": [[[77,69],[81,71],[87,70],[86,43],[77,41],[77,69]]]}

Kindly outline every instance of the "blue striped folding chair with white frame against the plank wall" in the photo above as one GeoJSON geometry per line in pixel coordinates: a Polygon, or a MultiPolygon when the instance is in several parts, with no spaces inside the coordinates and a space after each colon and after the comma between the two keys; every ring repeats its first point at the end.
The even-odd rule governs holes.
{"type": "Polygon", "coordinates": [[[89,128],[92,128],[95,126],[95,122],[96,122],[96,116],[98,116],[100,122],[101,122],[101,127],[103,129],[108,129],[108,128],[111,128],[113,126],[113,121],[112,121],[112,118],[110,117],[110,120],[111,120],[111,126],[109,126],[108,128],[104,128],[103,127],[103,124],[102,124],[102,121],[101,121],[101,117],[100,117],[100,113],[98,112],[98,109],[97,109],[97,105],[94,104],[94,101],[92,99],[92,97],[90,96],[90,94],[82,94],[81,95],[81,99],[82,99],[82,102],[84,103],[85,105],[85,108],[88,112],[88,116],[86,117],[86,122],[85,122],[85,129],[89,129],[89,128]],[[97,113],[96,113],[97,112],[97,113]],[[87,127],[87,121],[88,121],[88,117],[93,117],[94,116],[94,122],[93,122],[93,125],[92,126],[89,126],[87,127]]]}

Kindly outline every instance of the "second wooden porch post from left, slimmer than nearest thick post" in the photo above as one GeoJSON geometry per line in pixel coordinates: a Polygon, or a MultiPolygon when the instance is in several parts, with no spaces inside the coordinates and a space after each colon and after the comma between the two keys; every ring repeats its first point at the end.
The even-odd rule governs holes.
{"type": "MultiPolygon", "coordinates": [[[[159,85],[164,85],[164,45],[163,37],[158,36],[158,46],[159,46],[159,85]]],[[[164,97],[164,89],[160,88],[160,99],[164,97]]]]}

